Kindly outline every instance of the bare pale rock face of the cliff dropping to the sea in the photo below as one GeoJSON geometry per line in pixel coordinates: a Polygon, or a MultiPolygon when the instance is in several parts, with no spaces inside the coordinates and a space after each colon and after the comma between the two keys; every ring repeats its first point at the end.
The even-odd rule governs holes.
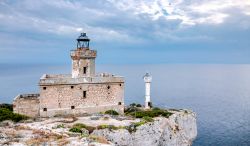
{"type": "Polygon", "coordinates": [[[176,112],[169,118],[157,117],[132,133],[126,129],[102,129],[92,134],[117,146],[189,146],[197,136],[196,116],[192,112],[176,112]]]}

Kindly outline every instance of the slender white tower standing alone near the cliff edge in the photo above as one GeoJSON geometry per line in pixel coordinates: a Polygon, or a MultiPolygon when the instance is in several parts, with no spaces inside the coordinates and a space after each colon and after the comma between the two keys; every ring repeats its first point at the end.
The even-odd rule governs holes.
{"type": "Polygon", "coordinates": [[[146,73],[143,76],[145,82],[145,109],[150,109],[151,102],[150,102],[150,84],[152,81],[152,76],[149,73],[146,73]]]}

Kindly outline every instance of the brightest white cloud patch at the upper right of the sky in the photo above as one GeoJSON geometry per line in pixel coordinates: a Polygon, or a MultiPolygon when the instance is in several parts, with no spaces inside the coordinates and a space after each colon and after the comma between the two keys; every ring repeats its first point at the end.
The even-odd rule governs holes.
{"type": "Polygon", "coordinates": [[[180,20],[182,25],[220,24],[230,16],[228,10],[237,9],[248,15],[250,2],[247,0],[109,0],[124,11],[132,11],[136,15],[146,14],[152,20],[163,17],[167,20],[180,20]]]}

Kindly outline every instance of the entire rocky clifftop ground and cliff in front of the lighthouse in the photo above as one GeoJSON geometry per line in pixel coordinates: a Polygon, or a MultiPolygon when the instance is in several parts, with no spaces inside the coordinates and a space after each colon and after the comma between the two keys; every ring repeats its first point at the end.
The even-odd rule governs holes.
{"type": "Polygon", "coordinates": [[[96,114],[0,124],[0,145],[189,146],[197,136],[192,111],[171,111],[152,121],[96,114]],[[77,127],[80,127],[80,132],[77,127]],[[75,128],[75,129],[74,129],[75,128]]]}

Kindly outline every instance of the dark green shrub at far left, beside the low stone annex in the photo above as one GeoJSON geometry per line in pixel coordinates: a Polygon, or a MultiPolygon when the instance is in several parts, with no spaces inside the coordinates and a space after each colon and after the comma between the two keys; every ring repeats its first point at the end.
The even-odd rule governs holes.
{"type": "Polygon", "coordinates": [[[19,122],[21,120],[28,119],[27,116],[13,113],[7,108],[0,108],[0,122],[4,120],[12,120],[14,122],[19,122]]]}

